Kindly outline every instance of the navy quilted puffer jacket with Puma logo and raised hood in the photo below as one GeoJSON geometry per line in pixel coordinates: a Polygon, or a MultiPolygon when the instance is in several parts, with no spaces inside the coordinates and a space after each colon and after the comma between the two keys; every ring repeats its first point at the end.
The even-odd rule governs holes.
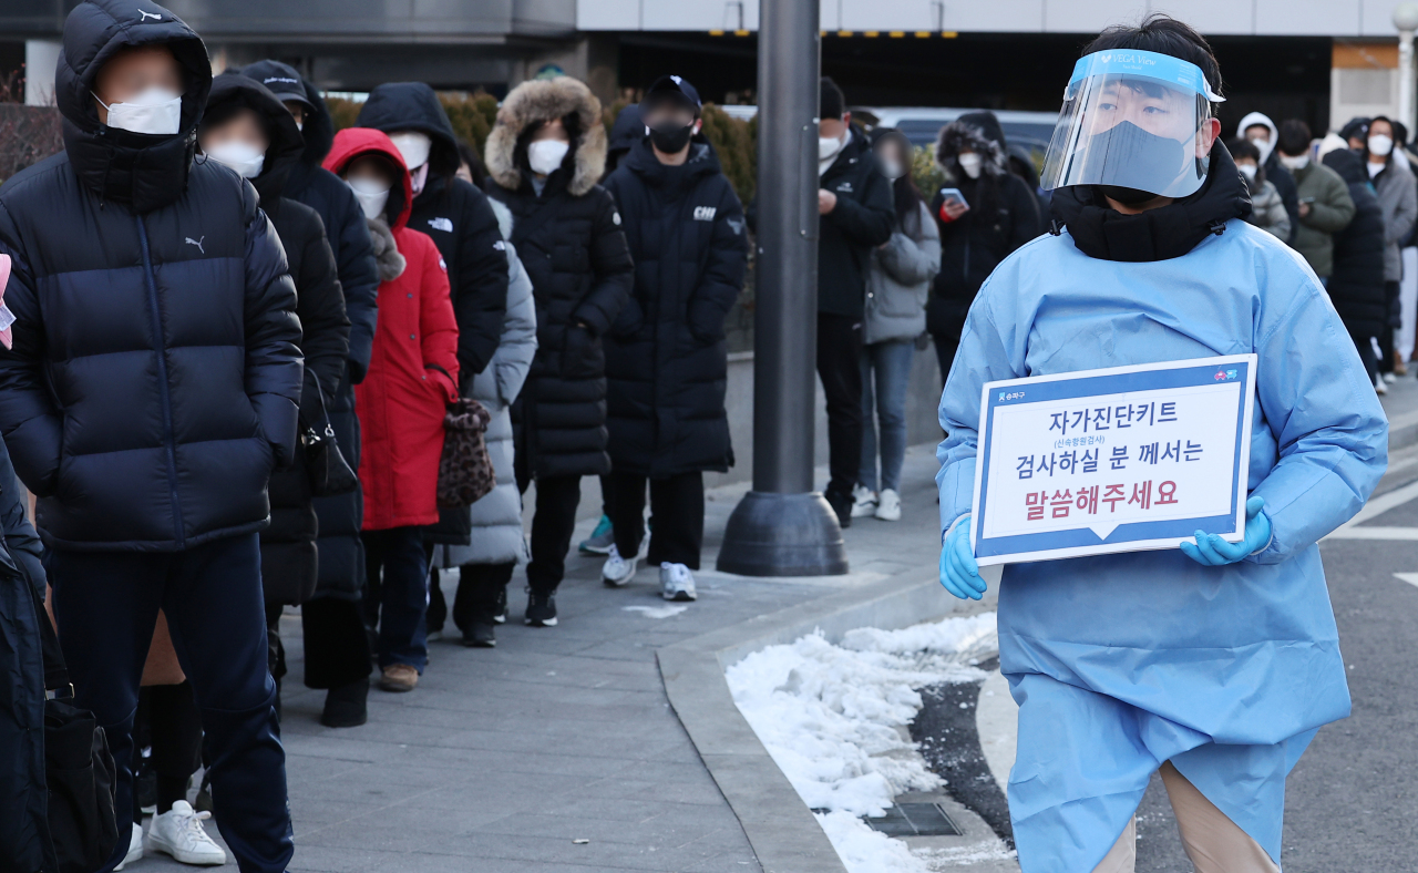
{"type": "Polygon", "coordinates": [[[211,88],[179,18],[132,0],[69,14],[55,77],[65,150],[0,188],[0,432],[75,550],[176,551],[267,526],[267,480],[295,452],[302,360],[295,286],[255,190],[193,160],[211,88]],[[96,58],[167,45],[186,72],[179,133],[105,128],[96,58]]]}

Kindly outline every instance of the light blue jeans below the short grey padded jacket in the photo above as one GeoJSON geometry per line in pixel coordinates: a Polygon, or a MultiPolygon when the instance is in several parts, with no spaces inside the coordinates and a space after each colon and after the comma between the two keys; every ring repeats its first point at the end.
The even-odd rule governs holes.
{"type": "Polygon", "coordinates": [[[862,466],[858,485],[876,489],[876,428],[881,427],[882,490],[900,492],[906,462],[906,384],[916,344],[910,340],[872,343],[862,349],[862,466]],[[876,412],[875,418],[872,412],[876,412]]]}

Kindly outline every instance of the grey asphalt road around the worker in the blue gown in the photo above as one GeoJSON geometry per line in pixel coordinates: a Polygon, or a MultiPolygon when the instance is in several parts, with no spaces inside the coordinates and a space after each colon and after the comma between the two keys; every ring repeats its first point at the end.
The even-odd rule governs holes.
{"type": "MultiPolygon", "coordinates": [[[[1285,873],[1418,870],[1418,488],[1404,490],[1418,482],[1418,448],[1395,452],[1390,469],[1375,497],[1398,492],[1409,499],[1356,526],[1383,530],[1320,546],[1350,668],[1353,714],[1320,730],[1290,774],[1285,873]],[[1353,539],[1374,534],[1380,539],[1353,539]]],[[[978,771],[980,740],[961,724],[973,719],[978,686],[932,692],[923,694],[926,709],[913,736],[933,768],[956,777],[956,799],[1005,836],[998,795],[977,782],[956,789],[970,782],[960,779],[963,771],[978,771]],[[961,741],[977,745],[961,750],[961,741]]],[[[1139,808],[1137,830],[1139,873],[1193,872],[1157,777],[1139,808]]]]}

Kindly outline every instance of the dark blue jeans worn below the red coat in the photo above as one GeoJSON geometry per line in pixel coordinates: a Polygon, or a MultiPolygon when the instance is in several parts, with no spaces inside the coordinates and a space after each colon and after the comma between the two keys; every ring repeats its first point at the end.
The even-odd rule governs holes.
{"type": "Polygon", "coordinates": [[[366,530],[364,565],[379,609],[379,666],[428,666],[428,553],[423,527],[366,530]],[[383,573],[381,573],[383,571],[383,573]]]}

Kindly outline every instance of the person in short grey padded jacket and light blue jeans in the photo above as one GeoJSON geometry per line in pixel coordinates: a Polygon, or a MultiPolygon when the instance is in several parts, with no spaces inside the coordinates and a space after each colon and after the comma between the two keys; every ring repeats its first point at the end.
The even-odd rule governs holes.
{"type": "Polygon", "coordinates": [[[872,133],[872,150],[882,173],[892,180],[896,215],[891,240],[872,251],[866,274],[862,325],[862,465],[852,495],[852,516],[899,522],[900,468],[906,459],[906,384],[910,381],[916,337],[926,332],[930,281],[940,272],[940,230],[910,179],[910,140],[899,130],[872,133]]]}

